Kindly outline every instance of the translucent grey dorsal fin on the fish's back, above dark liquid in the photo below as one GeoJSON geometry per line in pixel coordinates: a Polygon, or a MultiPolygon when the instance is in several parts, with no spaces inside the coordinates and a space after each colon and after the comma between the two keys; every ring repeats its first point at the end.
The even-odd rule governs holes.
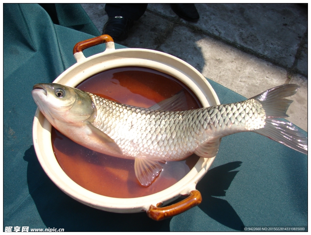
{"type": "Polygon", "coordinates": [[[187,110],[187,99],[185,92],[183,90],[179,91],[177,94],[173,95],[170,98],[160,101],[159,103],[149,107],[154,110],[163,110],[163,111],[179,111],[187,110]]]}

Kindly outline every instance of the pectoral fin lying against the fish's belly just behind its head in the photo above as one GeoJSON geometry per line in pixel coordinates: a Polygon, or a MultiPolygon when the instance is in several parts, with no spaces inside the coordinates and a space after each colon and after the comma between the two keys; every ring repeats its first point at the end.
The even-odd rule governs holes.
{"type": "Polygon", "coordinates": [[[97,127],[94,127],[91,122],[87,122],[87,126],[91,129],[89,136],[95,139],[95,141],[100,142],[110,154],[123,155],[117,143],[114,142],[114,140],[111,139],[107,134],[105,134],[97,127]]]}

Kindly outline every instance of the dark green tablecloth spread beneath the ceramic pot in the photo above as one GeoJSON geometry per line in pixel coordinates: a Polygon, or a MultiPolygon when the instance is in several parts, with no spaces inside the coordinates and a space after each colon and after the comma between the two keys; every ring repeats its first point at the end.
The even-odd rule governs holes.
{"type": "MultiPolygon", "coordinates": [[[[58,189],[35,154],[32,122],[37,106],[30,91],[34,84],[52,82],[74,64],[73,46],[99,32],[79,4],[57,4],[56,10],[59,25],[38,4],[4,4],[4,227],[235,231],[242,226],[308,225],[307,156],[251,132],[223,138],[211,170],[197,184],[202,203],[171,219],[156,222],[146,213],[97,210],[58,189]]],[[[99,45],[84,54],[104,48],[99,45]]],[[[222,104],[245,99],[208,81],[222,104]]]]}

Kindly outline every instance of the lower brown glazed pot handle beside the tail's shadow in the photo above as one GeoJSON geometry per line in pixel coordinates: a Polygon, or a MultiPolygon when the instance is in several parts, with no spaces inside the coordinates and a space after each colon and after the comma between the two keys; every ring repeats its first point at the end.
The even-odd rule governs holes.
{"type": "Polygon", "coordinates": [[[197,190],[193,190],[190,192],[187,198],[173,205],[165,207],[157,207],[160,206],[162,203],[158,203],[157,206],[151,205],[147,210],[147,215],[151,219],[159,221],[183,213],[184,211],[189,210],[196,205],[199,205],[201,202],[201,193],[197,190]]]}

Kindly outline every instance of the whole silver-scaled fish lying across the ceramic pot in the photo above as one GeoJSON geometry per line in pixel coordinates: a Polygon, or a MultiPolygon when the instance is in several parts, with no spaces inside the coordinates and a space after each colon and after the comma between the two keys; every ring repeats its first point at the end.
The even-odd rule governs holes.
{"type": "Polygon", "coordinates": [[[166,161],[191,154],[215,157],[220,138],[253,131],[308,154],[308,138],[288,117],[299,86],[284,84],[232,104],[176,111],[183,92],[149,108],[121,104],[57,83],[39,83],[31,91],[47,120],[72,141],[118,158],[134,159],[135,175],[143,187],[159,176],[166,161]],[[170,111],[168,111],[170,110],[170,111]]]}

